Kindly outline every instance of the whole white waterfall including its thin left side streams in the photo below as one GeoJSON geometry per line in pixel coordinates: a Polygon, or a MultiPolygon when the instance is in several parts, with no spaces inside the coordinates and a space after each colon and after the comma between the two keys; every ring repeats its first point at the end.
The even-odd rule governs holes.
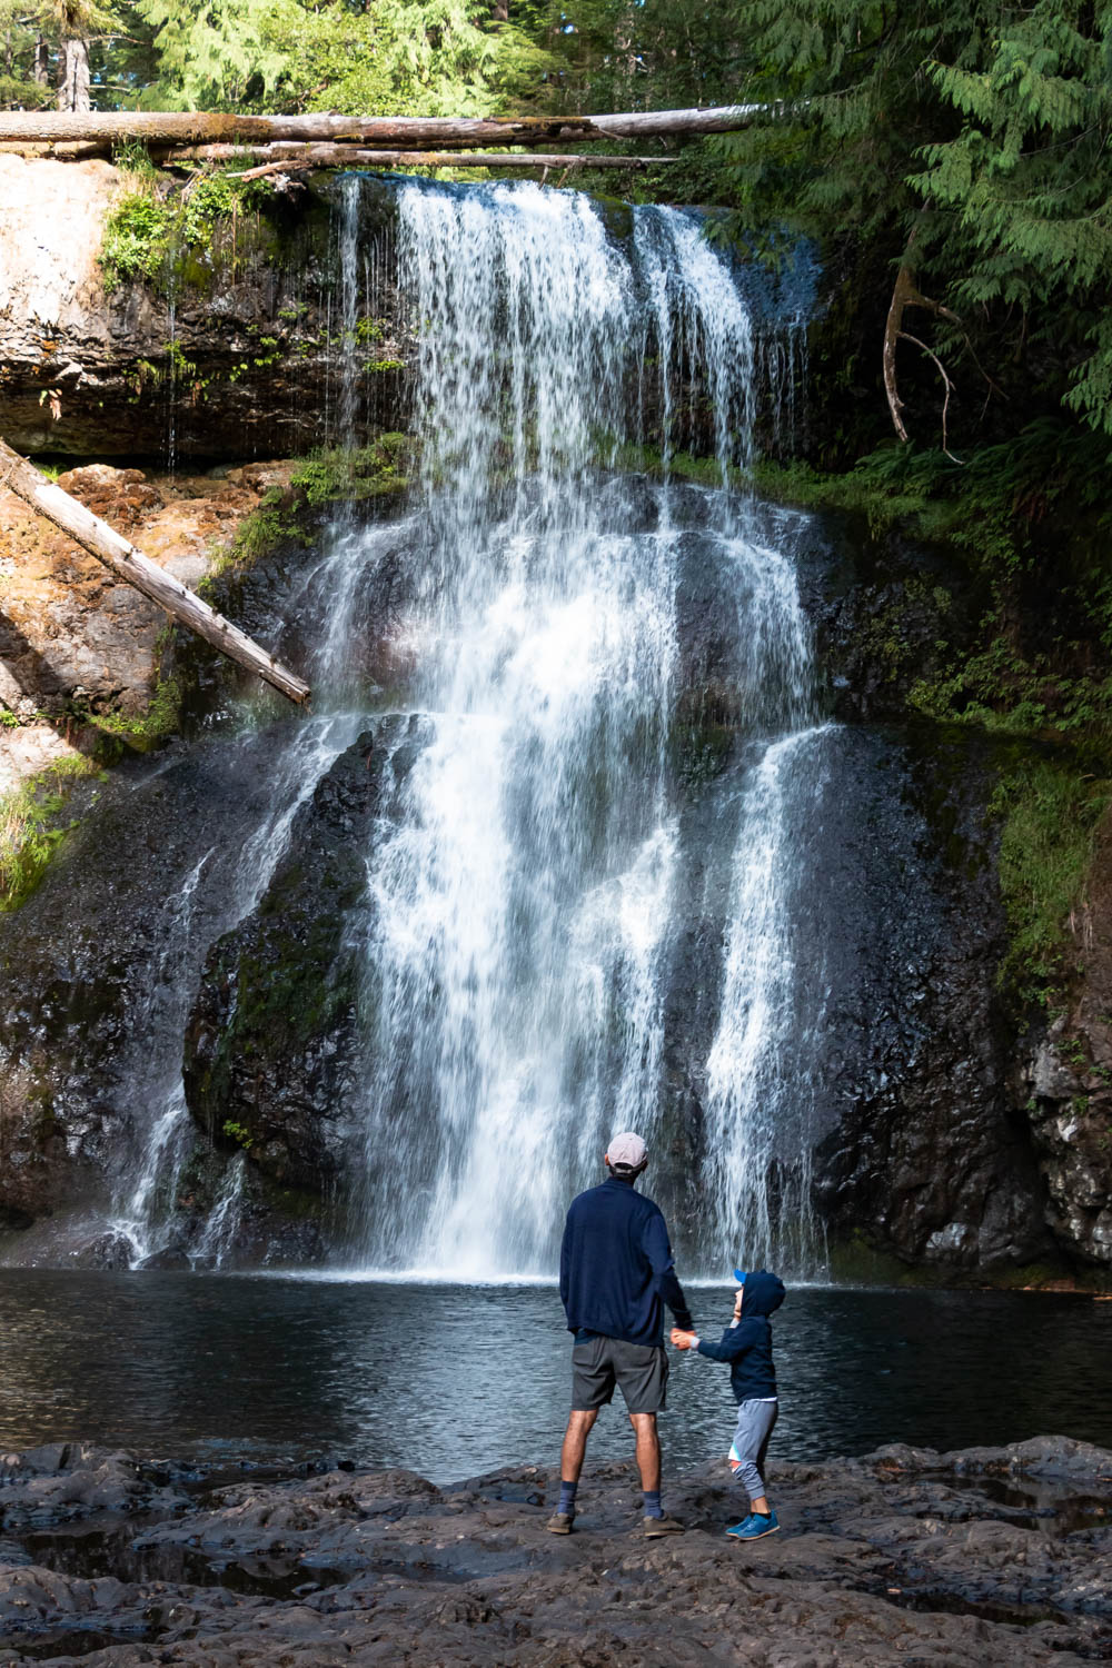
{"type": "MultiPolygon", "coordinates": [[[[348,359],[327,430],[340,439],[385,260],[360,240],[362,188],[343,178],[337,203],[333,329],[348,359]]],[[[163,922],[113,1228],[135,1261],[168,1243],[192,1144],[180,1036],[207,946],[263,899],[338,754],[400,711],[417,717],[375,729],[393,751],[347,922],[363,1031],[338,1109],[357,1226],[337,1258],[548,1274],[569,1198],[634,1126],[662,1168],[672,1154],[664,1203],[707,1269],[734,1256],[812,1268],[820,1002],[800,1024],[792,829],[822,731],[799,519],[754,505],[735,475],[760,389],[790,400],[797,320],[777,335],[690,212],[604,212],[535,185],[410,180],[397,197],[418,492],[395,522],[340,512],[290,599],[317,716],[263,736],[248,724],[233,744],[253,772],[267,759],[268,782],[253,831],[183,871],[163,922]],[[650,444],[655,474],[629,474],[630,447],[650,444]],[[707,485],[679,480],[680,454],[700,450],[707,485]],[[362,639],[375,575],[400,560],[405,671],[382,691],[362,639]],[[700,587],[722,639],[714,697],[689,664],[700,587]],[[715,1017],[692,1044],[697,1106],[680,1114],[669,1054],[697,887],[677,757],[715,701],[739,761],[715,789],[727,922],[697,972],[715,1017]]],[[[228,1161],[190,1233],[195,1259],[233,1259],[250,1173],[243,1154],[228,1161]]]]}

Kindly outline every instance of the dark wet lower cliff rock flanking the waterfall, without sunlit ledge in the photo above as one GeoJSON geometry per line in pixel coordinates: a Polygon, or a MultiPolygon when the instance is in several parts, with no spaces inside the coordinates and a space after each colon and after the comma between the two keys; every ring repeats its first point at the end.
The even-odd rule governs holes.
{"type": "MultiPolygon", "coordinates": [[[[145,485],[115,490],[142,495],[145,485]]],[[[230,490],[240,489],[248,490],[243,482],[230,490]]],[[[1007,931],[987,817],[992,749],[969,731],[909,727],[899,681],[864,656],[857,629],[877,595],[890,614],[892,587],[907,582],[904,555],[880,584],[874,572],[854,582],[832,560],[832,544],[844,552],[847,529],[815,522],[804,564],[830,699],[849,722],[817,742],[817,787],[794,831],[800,871],[815,884],[790,907],[807,947],[794,1001],[825,1036],[814,1073],[814,1184],[834,1266],[875,1276],[900,1263],[935,1278],[997,1278],[1034,1263],[1042,1278],[1107,1266],[1104,899],[1090,892],[1085,994],[1030,1061],[1012,1068],[1014,1021],[997,989],[1007,931]],[[879,1253],[897,1263],[875,1263],[879,1253]]],[[[405,676],[390,629],[408,572],[403,524],[383,529],[377,549],[358,607],[365,674],[382,684],[405,676]]],[[[862,569],[874,557],[862,550],[862,569]]],[[[280,615],[297,612],[288,599],[315,562],[313,550],[290,547],[220,602],[272,639],[280,615]]],[[[737,692],[722,676],[734,652],[722,597],[699,565],[680,592],[680,664],[692,692],[675,752],[687,896],[669,976],[670,1138],[657,1189],[694,1251],[700,1211],[685,1178],[702,1158],[699,1063],[717,1011],[707,969],[725,929],[730,806],[747,752],[737,692]]],[[[909,641],[934,642],[937,624],[920,604],[909,641]]],[[[370,926],[365,856],[422,744],[420,721],[382,719],[342,751],[295,812],[285,854],[257,896],[243,894],[240,851],[275,792],[265,734],[137,764],[132,786],[85,789],[103,792],[103,809],[42,892],[8,924],[0,917],[10,992],[0,1134],[13,1159],[0,1204],[27,1244],[48,1213],[103,1196],[122,1146],[135,1141],[133,1016],[150,1011],[153,1026],[167,1024],[158,992],[182,954],[193,971],[183,977],[183,964],[173,967],[180,1017],[160,1032],[167,1069],[177,1069],[185,1036],[193,1118],[193,1156],[167,1199],[175,1244],[197,1248],[230,1164],[245,1178],[232,1254],[303,1259],[320,1253],[322,1228],[343,1233],[373,1036],[355,949],[370,926]],[[205,884],[193,894],[198,862],[205,884]],[[167,899],[200,912],[185,937],[173,936],[167,899]]]]}

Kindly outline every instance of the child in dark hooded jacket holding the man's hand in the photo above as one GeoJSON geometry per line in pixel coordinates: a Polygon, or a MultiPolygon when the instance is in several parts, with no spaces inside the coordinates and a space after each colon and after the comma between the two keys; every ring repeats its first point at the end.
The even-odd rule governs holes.
{"type": "Polygon", "coordinates": [[[734,1319],[717,1344],[697,1333],[672,1328],[677,1349],[697,1349],[709,1361],[730,1363],[730,1388],[737,1401],[737,1429],[730,1444],[730,1471],[749,1493],[749,1516],[725,1531],[739,1541],[757,1541],[780,1528],[765,1493],[764,1466],[769,1438],[777,1421],[777,1376],[772,1364],[772,1326],[769,1316],[784,1303],[784,1281],[767,1269],[745,1273],[734,1269],[740,1281],[734,1299],[734,1319]]]}

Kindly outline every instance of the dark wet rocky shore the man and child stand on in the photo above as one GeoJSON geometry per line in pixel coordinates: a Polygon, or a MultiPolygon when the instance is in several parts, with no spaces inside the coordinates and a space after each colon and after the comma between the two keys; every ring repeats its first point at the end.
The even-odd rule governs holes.
{"type": "Polygon", "coordinates": [[[343,1460],[222,1473],[80,1443],[0,1456],[0,1668],[687,1668],[1107,1661],[1112,1453],[1067,1438],[770,1470],[784,1533],[729,1541],[724,1465],[640,1535],[630,1465],[569,1540],[537,1466],[437,1488],[343,1460]]]}

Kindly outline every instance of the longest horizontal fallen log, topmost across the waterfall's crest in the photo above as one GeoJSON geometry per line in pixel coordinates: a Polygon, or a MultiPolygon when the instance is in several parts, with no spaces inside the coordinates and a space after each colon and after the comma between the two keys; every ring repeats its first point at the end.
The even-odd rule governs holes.
{"type": "Polygon", "coordinates": [[[747,127],[760,105],[715,110],[640,110],[585,117],[348,117],[223,115],[192,110],[3,110],[0,143],[123,140],[147,145],[265,145],[273,140],[350,142],[423,150],[432,145],[552,145],[600,138],[725,133],[747,127]]]}

